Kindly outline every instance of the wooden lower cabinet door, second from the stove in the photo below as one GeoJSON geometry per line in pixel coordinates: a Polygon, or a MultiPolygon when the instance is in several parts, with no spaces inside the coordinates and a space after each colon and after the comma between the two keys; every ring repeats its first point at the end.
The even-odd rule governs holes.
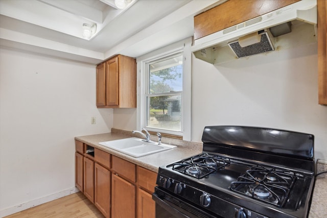
{"type": "Polygon", "coordinates": [[[111,180],[111,217],[135,218],[135,185],[112,174],[111,180]]]}

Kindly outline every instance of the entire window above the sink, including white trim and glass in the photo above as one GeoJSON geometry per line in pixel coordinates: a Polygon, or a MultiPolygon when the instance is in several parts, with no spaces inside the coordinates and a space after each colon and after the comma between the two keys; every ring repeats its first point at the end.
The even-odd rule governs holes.
{"type": "Polygon", "coordinates": [[[191,140],[191,44],[186,38],[136,59],[136,127],[191,140]]]}

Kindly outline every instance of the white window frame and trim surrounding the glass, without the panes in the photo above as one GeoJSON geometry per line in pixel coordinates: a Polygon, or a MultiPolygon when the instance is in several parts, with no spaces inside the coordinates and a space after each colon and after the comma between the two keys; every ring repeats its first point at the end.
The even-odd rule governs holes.
{"type": "MultiPolygon", "coordinates": [[[[148,131],[166,133],[169,135],[182,136],[183,140],[191,140],[191,43],[192,38],[175,42],[136,58],[137,62],[137,107],[136,107],[136,128],[146,128],[148,131]],[[157,61],[160,58],[182,54],[183,57],[183,76],[182,76],[182,94],[181,94],[181,131],[170,131],[164,129],[147,128],[147,99],[146,88],[149,80],[147,79],[147,64],[157,61]]],[[[166,94],[165,94],[166,95],[166,94]]]]}

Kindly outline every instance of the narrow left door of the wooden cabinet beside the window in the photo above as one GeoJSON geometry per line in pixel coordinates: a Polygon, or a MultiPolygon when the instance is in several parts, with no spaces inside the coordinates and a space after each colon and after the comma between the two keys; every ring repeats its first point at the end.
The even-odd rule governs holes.
{"type": "Polygon", "coordinates": [[[97,106],[106,105],[106,68],[105,63],[97,66],[97,106]]]}

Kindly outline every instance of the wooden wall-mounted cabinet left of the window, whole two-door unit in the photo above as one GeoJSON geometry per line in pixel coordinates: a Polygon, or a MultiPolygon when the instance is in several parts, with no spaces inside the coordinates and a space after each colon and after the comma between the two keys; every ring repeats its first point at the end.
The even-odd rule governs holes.
{"type": "Polygon", "coordinates": [[[97,107],[136,107],[136,61],[117,55],[97,66],[97,107]]]}

